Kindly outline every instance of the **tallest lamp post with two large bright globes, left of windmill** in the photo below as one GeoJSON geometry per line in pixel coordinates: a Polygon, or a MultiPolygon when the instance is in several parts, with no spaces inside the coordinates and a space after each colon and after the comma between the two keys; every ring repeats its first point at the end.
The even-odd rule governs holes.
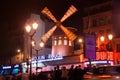
{"type": "Polygon", "coordinates": [[[34,34],[36,33],[36,30],[38,28],[38,24],[36,22],[34,22],[33,24],[27,24],[25,27],[26,32],[28,33],[29,37],[30,37],[30,79],[32,76],[32,37],[34,36],[34,34]]]}

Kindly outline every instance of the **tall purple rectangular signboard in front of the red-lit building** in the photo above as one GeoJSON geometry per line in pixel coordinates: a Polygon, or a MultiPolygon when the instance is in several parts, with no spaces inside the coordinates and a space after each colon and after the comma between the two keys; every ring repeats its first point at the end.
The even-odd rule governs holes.
{"type": "Polygon", "coordinates": [[[96,36],[93,34],[85,35],[85,57],[96,59],[96,36]]]}

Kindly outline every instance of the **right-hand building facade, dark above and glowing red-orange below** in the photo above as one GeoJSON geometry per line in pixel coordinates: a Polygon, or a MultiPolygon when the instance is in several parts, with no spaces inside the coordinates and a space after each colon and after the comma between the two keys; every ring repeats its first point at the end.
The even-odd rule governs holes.
{"type": "Polygon", "coordinates": [[[119,26],[116,27],[117,23],[114,22],[114,15],[116,15],[114,6],[116,6],[115,2],[110,0],[84,8],[83,32],[96,35],[96,60],[112,60],[118,64],[120,36],[118,35],[119,26]],[[112,34],[112,40],[108,38],[109,34],[112,34]],[[104,41],[101,41],[102,36],[104,41]]]}

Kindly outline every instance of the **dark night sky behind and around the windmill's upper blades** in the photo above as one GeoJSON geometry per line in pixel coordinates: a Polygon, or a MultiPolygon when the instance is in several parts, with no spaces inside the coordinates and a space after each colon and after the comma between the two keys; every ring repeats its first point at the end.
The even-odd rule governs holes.
{"type": "Polygon", "coordinates": [[[23,27],[31,13],[41,14],[41,10],[47,6],[54,16],[60,19],[73,4],[78,12],[68,18],[63,25],[75,27],[81,31],[83,7],[104,1],[106,0],[1,0],[0,57],[6,57],[6,54],[9,56],[23,46],[21,45],[23,27]]]}

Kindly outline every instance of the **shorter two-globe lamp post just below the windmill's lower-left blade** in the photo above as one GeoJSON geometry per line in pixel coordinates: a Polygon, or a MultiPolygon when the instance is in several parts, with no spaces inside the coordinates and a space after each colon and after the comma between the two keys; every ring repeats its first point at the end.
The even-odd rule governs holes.
{"type": "Polygon", "coordinates": [[[36,51],[36,74],[37,74],[37,67],[39,67],[38,66],[38,52],[40,51],[40,50],[42,50],[42,48],[44,47],[44,42],[40,42],[39,43],[39,48],[35,48],[35,46],[36,46],[36,42],[33,40],[32,41],[32,46],[34,47],[34,49],[35,49],[35,51],[36,51]]]}

